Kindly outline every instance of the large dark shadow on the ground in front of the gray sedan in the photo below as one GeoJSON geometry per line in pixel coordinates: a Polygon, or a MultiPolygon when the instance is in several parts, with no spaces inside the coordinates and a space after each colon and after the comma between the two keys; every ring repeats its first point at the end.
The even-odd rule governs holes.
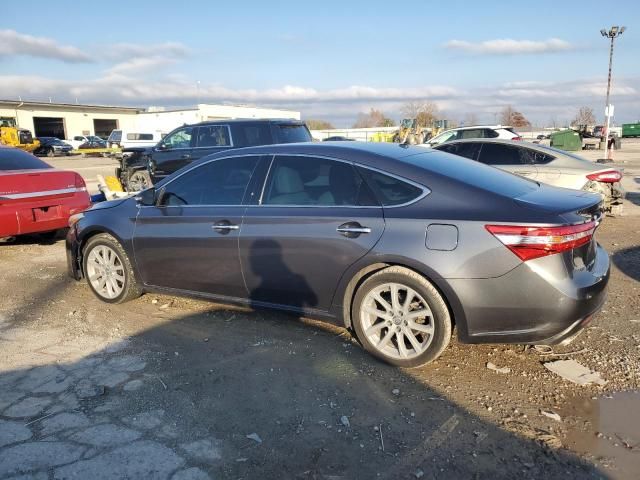
{"type": "MultiPolygon", "coordinates": [[[[71,288],[61,282],[34,292],[35,301],[16,311],[25,319],[46,316],[71,288]]],[[[98,311],[103,306],[88,302],[98,311]]],[[[147,307],[138,301],[103,309],[105,330],[113,315],[131,318],[133,327],[127,315],[147,307]]],[[[18,434],[0,448],[0,478],[34,471],[52,478],[151,478],[144,469],[149,462],[154,478],[196,466],[230,479],[606,478],[568,451],[472,414],[321,322],[212,306],[147,325],[121,347],[73,361],[52,354],[33,368],[0,372],[0,420],[22,425],[12,425],[18,434]],[[137,356],[146,362],[142,369],[127,368],[137,356]],[[139,381],[136,390],[128,389],[131,380],[139,381]],[[81,398],[87,382],[106,388],[81,398]],[[38,402],[45,407],[35,411],[38,402]],[[33,413],[16,415],[27,407],[33,413]],[[148,420],[151,412],[162,412],[154,414],[158,422],[148,420]],[[77,421],[62,421],[60,413],[77,421]],[[88,426],[99,424],[115,425],[115,437],[94,440],[88,426]],[[208,450],[190,456],[188,445],[202,439],[208,450]],[[66,460],[50,454],[56,448],[66,460]],[[153,452],[160,452],[157,458],[145,458],[153,452]]],[[[14,328],[0,323],[0,341],[15,338],[14,328]]],[[[63,345],[56,347],[60,352],[63,345]]],[[[438,363],[422,373],[430,368],[438,363]]]]}

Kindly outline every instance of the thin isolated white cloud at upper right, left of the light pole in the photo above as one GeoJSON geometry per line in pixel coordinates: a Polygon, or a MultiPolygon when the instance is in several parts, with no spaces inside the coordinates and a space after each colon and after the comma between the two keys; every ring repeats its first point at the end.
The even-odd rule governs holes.
{"type": "Polygon", "coordinates": [[[465,40],[450,40],[444,46],[451,50],[460,50],[479,55],[518,55],[535,53],[555,53],[573,50],[575,47],[565,40],[549,38],[547,40],[512,40],[509,38],[485,40],[472,43],[465,40]]]}

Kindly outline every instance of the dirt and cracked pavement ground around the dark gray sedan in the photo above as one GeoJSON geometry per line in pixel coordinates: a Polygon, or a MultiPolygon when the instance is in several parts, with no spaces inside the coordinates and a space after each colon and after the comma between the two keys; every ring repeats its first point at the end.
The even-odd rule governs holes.
{"type": "Polygon", "coordinates": [[[597,232],[609,298],[572,344],[454,338],[411,370],[283,313],[155,294],[109,306],[67,277],[61,239],[0,245],[0,478],[637,478],[630,207],[597,232]],[[556,359],[607,383],[570,383],[543,366],[556,359]]]}

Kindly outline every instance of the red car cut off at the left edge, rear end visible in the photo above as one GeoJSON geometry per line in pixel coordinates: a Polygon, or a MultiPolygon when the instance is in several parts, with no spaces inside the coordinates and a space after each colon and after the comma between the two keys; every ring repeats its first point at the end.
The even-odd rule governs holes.
{"type": "Polygon", "coordinates": [[[80,175],[0,145],[0,238],[55,232],[90,205],[80,175]]]}

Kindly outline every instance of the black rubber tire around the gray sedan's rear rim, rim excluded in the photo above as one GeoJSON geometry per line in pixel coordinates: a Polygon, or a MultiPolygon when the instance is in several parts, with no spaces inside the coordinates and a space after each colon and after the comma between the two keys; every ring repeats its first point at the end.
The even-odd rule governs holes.
{"type": "Polygon", "coordinates": [[[386,363],[407,368],[418,367],[438,358],[445,348],[447,348],[447,345],[449,345],[452,330],[451,315],[440,292],[422,275],[408,268],[399,266],[379,270],[360,285],[353,298],[351,325],[365,350],[386,363]],[[409,359],[399,359],[386,355],[376,348],[364,333],[361,310],[365,297],[376,287],[388,283],[402,284],[411,288],[423,297],[431,309],[432,316],[430,318],[433,323],[432,339],[422,353],[409,359]]]}

